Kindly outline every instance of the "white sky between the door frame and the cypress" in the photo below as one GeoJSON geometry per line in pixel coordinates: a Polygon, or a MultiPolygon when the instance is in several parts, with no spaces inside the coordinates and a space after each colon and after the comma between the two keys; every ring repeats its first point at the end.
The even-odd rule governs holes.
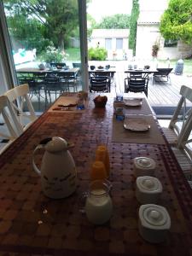
{"type": "Polygon", "coordinates": [[[132,0],[92,0],[87,13],[97,22],[104,16],[131,14],[132,0]]]}

